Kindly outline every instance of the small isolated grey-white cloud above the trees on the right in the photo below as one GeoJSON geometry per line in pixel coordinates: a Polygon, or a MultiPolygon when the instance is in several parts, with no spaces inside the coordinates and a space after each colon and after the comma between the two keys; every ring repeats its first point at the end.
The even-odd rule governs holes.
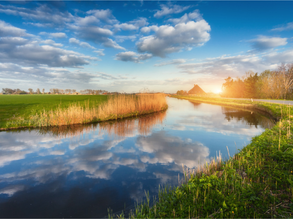
{"type": "Polygon", "coordinates": [[[287,44],[287,38],[258,36],[258,38],[248,40],[248,42],[251,43],[251,46],[255,50],[263,51],[278,46],[285,46],[287,44]]]}

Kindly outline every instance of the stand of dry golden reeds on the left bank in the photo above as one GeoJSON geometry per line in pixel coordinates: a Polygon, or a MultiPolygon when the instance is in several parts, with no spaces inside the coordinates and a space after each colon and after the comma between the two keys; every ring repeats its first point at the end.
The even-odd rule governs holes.
{"type": "Polygon", "coordinates": [[[166,109],[165,95],[145,93],[142,95],[110,95],[107,102],[98,106],[85,106],[72,103],[68,108],[57,108],[53,111],[43,110],[28,120],[29,126],[62,126],[85,124],[95,121],[121,119],[166,109]]]}

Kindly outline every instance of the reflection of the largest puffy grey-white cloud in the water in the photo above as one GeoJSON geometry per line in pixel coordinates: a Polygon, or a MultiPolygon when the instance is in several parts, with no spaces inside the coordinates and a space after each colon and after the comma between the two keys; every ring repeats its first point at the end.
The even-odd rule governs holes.
{"type": "Polygon", "coordinates": [[[146,140],[138,139],[136,145],[142,152],[148,152],[141,157],[141,161],[150,164],[168,164],[174,162],[178,166],[182,163],[190,168],[196,167],[199,160],[207,160],[209,148],[200,142],[182,140],[177,136],[166,135],[160,131],[146,140]]]}

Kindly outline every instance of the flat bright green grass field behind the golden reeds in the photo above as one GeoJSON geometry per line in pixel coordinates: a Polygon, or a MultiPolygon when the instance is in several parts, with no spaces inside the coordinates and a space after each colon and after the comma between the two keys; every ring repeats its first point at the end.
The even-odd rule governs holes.
{"type": "Polygon", "coordinates": [[[7,121],[30,117],[43,109],[66,108],[73,102],[98,105],[107,99],[108,95],[0,95],[0,128],[7,128],[7,121]]]}

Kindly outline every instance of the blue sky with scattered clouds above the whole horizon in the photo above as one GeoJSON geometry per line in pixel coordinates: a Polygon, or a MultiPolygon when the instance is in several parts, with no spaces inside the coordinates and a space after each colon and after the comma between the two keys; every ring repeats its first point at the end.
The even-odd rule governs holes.
{"type": "MultiPolygon", "coordinates": [[[[175,93],[293,62],[293,1],[0,1],[0,89],[175,93]]],[[[1,91],[0,90],[0,91],[1,91]]]]}

